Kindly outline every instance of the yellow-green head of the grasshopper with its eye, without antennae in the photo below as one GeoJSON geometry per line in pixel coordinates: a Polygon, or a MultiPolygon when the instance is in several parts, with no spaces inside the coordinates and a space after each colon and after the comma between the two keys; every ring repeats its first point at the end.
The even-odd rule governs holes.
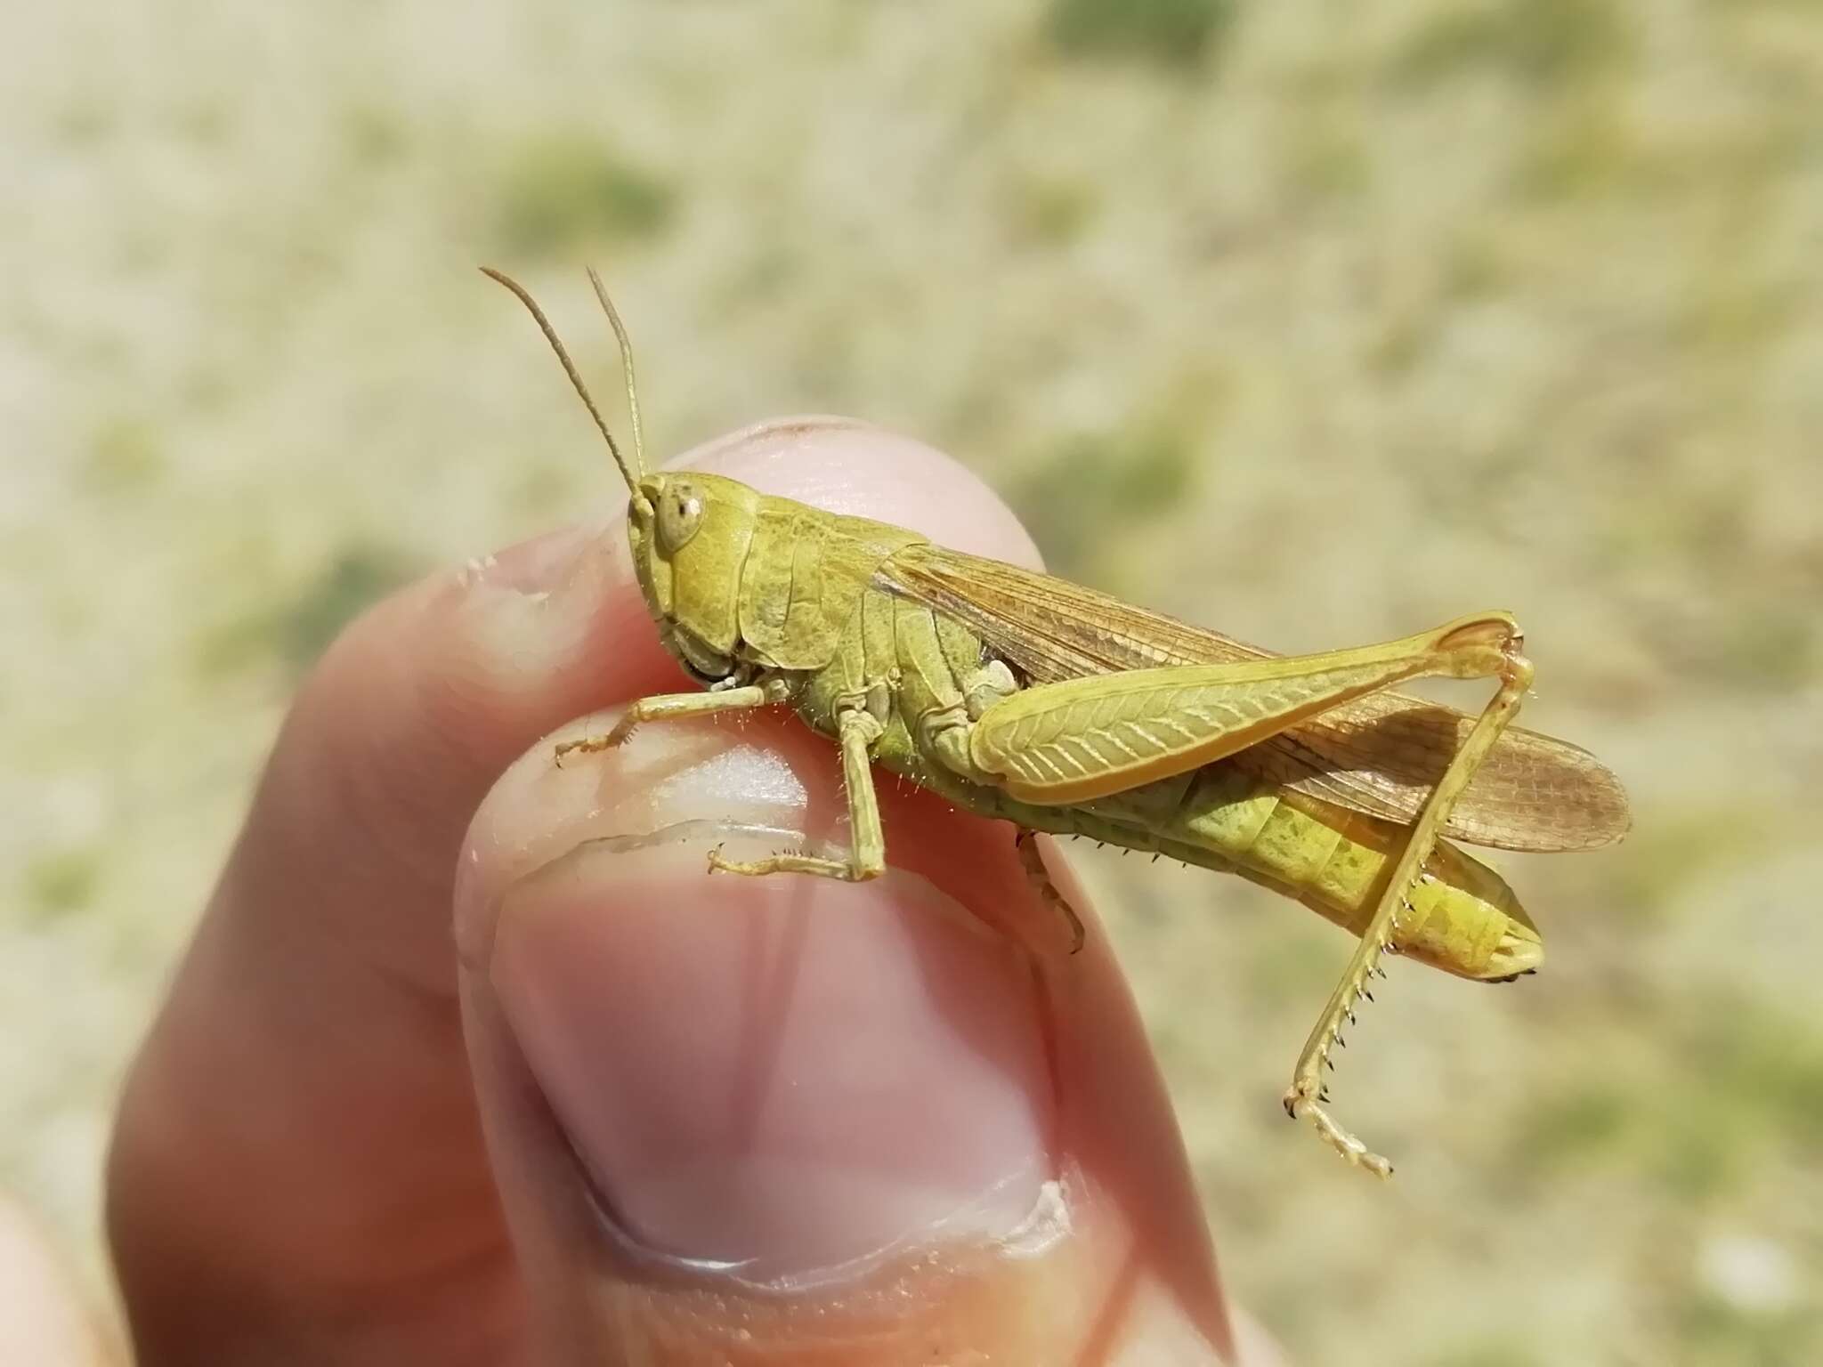
{"type": "Polygon", "coordinates": [[[715,474],[647,474],[627,503],[633,570],[665,647],[702,684],[735,671],[740,567],[760,494],[715,474]]]}

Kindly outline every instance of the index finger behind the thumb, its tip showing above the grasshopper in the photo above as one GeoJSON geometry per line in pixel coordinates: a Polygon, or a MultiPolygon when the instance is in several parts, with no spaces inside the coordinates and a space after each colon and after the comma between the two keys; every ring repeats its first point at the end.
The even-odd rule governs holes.
{"type": "MultiPolygon", "coordinates": [[[[687,459],[1032,554],[953,463],[859,423],[769,423],[687,459]]],[[[523,592],[483,561],[381,603],[332,647],[122,1099],[109,1236],[144,1362],[188,1360],[199,1334],[215,1360],[239,1345],[272,1360],[273,1325],[324,1336],[303,1356],[510,1349],[520,1283],[454,1001],[456,851],[536,736],[678,685],[618,527],[587,538],[561,583],[523,592]]]]}

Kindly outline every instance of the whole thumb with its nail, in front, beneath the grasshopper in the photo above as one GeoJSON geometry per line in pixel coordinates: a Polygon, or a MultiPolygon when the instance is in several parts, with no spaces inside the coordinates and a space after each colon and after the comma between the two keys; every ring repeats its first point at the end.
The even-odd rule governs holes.
{"type": "Polygon", "coordinates": [[[840,844],[833,751],[789,720],[551,755],[478,813],[456,924],[554,1360],[1231,1356],[1158,1070],[1056,855],[1079,955],[1006,826],[890,782],[877,882],[709,877],[724,840],[840,844]]]}

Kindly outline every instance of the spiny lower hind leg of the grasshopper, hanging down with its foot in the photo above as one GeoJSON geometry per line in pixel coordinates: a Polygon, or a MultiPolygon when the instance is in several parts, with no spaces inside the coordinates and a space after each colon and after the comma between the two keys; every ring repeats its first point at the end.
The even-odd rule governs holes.
{"type": "Polygon", "coordinates": [[[1331,1066],[1329,1050],[1342,1041],[1344,1023],[1354,1019],[1354,1002],[1367,988],[1367,979],[1373,975],[1380,955],[1385,953],[1398,930],[1398,913],[1411,908],[1411,889],[1424,873],[1424,862],[1437,848],[1437,833],[1449,818],[1449,811],[1455,807],[1462,789],[1469,786],[1475,771],[1488,758],[1488,751],[1493,749],[1508,722],[1513,720],[1513,713],[1519,711],[1519,704],[1531,685],[1531,662],[1519,653],[1519,647],[1520,634],[1515,629],[1502,643],[1502,665],[1497,671],[1500,691],[1495,693],[1488,707],[1475,720],[1468,738],[1462,742],[1462,749],[1449,760],[1429,800],[1418,813],[1418,822],[1411,827],[1411,837],[1406,840],[1406,851],[1387,879],[1373,919],[1362,931],[1362,942],[1354,948],[1354,955],[1342,973],[1342,982],[1329,995],[1329,1004],[1318,1017],[1316,1028],[1311,1030],[1311,1037],[1303,1043],[1291,1088],[1285,1092],[1285,1112],[1293,1119],[1309,1119],[1323,1141],[1342,1154],[1342,1157],[1380,1177],[1391,1177],[1393,1165],[1371,1152],[1367,1145],[1349,1134],[1323,1108],[1327,1101],[1323,1068],[1331,1066]]]}

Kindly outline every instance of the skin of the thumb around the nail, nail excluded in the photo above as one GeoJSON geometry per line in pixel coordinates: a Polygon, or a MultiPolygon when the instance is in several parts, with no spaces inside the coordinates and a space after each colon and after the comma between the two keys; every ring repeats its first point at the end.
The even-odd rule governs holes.
{"type": "MultiPolygon", "coordinates": [[[[565,735],[600,735],[611,720],[589,718],[565,735]]],[[[806,835],[839,838],[829,829],[842,806],[829,747],[789,718],[757,718],[738,729],[715,722],[649,725],[622,751],[569,760],[561,769],[540,745],[496,786],[470,833],[458,895],[463,1006],[478,1090],[496,1099],[483,1114],[552,1360],[884,1365],[977,1354],[986,1362],[1189,1363],[1210,1362],[1216,1351],[1232,1360],[1176,1123],[1105,939],[1092,930],[1085,951],[1072,957],[1066,931],[1032,895],[1012,857],[1004,826],[948,811],[891,782],[881,784],[881,806],[893,866],[926,879],[1030,950],[1056,1072],[1057,1177],[1068,1234],[1037,1254],[953,1243],[941,1256],[917,1249],[850,1283],[798,1296],[720,1278],[654,1276],[623,1239],[603,1234],[589,1179],[494,995],[494,935],[500,917],[512,915],[520,880],[583,842],[623,835],[614,827],[629,818],[629,782],[664,784],[667,800],[691,811],[713,811],[718,802],[738,809],[740,795],[726,793],[729,767],[715,764],[731,745],[758,745],[782,758],[808,793],[806,813],[822,818],[813,815],[819,829],[806,835]],[[706,791],[678,795],[698,778],[706,791]]],[[[680,915],[685,900],[700,900],[729,919],[729,953],[738,957],[751,942],[740,935],[740,917],[762,911],[786,895],[780,884],[795,880],[709,879],[700,858],[702,849],[695,857],[680,851],[667,866],[671,879],[654,889],[644,877],[629,897],[680,915]]],[[[1056,857],[1052,862],[1059,886],[1087,910],[1068,871],[1056,857]]],[[[921,913],[928,915],[922,908],[904,915],[921,913]]],[[[613,906],[602,915],[613,915],[613,906]]],[[[808,919],[800,935],[817,935],[819,924],[828,922],[808,919]]],[[[815,957],[815,946],[800,942],[797,951],[815,957]]],[[[777,966],[738,977],[795,981],[777,966]]],[[[600,992],[616,992],[611,977],[600,992]]],[[[680,1002],[680,1010],[704,1006],[680,1002]]],[[[777,1021],[797,1021],[804,1010],[780,988],[767,1004],[749,1004],[742,1028],[757,1039],[777,1037],[777,1021]]],[[[966,1033],[961,1021],[970,1002],[952,999],[950,1010],[957,1033],[966,1033]]],[[[614,1046],[603,1041],[603,1048],[614,1046]]],[[[766,1074],[766,1061],[755,1061],[755,1070],[766,1074]]]]}

